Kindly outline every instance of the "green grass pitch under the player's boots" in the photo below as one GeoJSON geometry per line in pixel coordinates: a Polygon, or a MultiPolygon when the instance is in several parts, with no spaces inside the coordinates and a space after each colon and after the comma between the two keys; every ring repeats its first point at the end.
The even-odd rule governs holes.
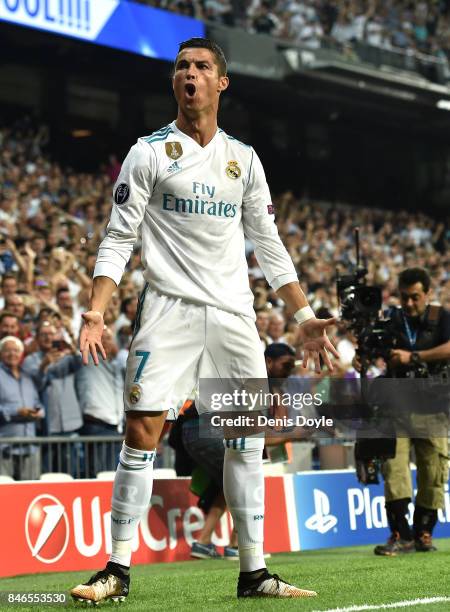
{"type": "MultiPolygon", "coordinates": [[[[238,563],[188,561],[140,565],[132,570],[131,592],[120,610],[144,612],[206,610],[329,610],[353,605],[381,605],[416,598],[450,596],[450,540],[437,540],[435,553],[411,553],[402,557],[376,557],[372,546],[338,548],[272,555],[268,567],[288,582],[316,590],[311,599],[237,600],[238,563]]],[[[6,591],[67,591],[91,572],[38,574],[0,580],[1,610],[30,610],[61,606],[6,605],[6,591]]],[[[84,609],[70,603],[63,609],[84,609]]],[[[118,604],[105,603],[112,609],[118,604]]],[[[401,607],[396,610],[406,610],[401,607]]],[[[411,610],[411,608],[408,608],[411,610]]],[[[414,606],[413,610],[450,611],[450,601],[414,606]]]]}

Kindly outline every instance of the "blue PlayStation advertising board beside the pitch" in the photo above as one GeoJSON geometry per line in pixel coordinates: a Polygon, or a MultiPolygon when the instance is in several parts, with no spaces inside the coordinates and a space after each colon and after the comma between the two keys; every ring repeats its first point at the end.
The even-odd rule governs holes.
{"type": "MultiPolygon", "coordinates": [[[[381,544],[389,536],[383,484],[362,486],[353,470],[296,474],[294,496],[300,550],[381,544]]],[[[411,524],[412,510],[411,504],[411,524]]],[[[438,517],[433,536],[450,537],[448,484],[438,517]]]]}

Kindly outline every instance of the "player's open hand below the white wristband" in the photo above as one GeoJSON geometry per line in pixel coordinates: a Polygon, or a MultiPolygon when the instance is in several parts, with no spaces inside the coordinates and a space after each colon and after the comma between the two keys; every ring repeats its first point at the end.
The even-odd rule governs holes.
{"type": "Polygon", "coordinates": [[[303,363],[304,368],[307,367],[309,359],[314,361],[316,372],[320,372],[320,357],[330,370],[333,371],[333,365],[328,352],[339,359],[339,353],[331,344],[327,336],[326,328],[336,324],[336,319],[308,319],[300,325],[300,341],[303,346],[303,363]]]}

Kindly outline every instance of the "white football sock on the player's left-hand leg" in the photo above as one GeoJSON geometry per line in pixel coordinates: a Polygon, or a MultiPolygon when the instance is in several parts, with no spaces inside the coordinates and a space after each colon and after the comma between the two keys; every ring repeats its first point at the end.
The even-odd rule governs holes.
{"type": "Polygon", "coordinates": [[[123,443],[111,504],[110,561],[129,566],[131,543],[141,516],[150,505],[156,449],[142,451],[123,443]]]}

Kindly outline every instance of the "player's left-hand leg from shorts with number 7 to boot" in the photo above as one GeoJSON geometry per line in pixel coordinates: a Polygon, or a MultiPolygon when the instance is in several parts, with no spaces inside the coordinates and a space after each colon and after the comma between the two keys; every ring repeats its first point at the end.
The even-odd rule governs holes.
{"type": "Polygon", "coordinates": [[[111,559],[71,591],[93,602],[128,594],[131,542],[150,504],[155,448],[168,409],[176,414],[195,385],[204,345],[204,308],[150,290],[145,295],[136,317],[142,326],[127,360],[126,435],[113,486],[111,559]]]}

